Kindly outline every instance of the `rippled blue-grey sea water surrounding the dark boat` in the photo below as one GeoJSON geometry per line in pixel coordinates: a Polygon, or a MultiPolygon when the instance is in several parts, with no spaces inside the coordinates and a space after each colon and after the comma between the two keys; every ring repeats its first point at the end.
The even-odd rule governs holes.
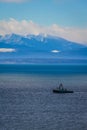
{"type": "Polygon", "coordinates": [[[87,66],[0,65],[0,130],[87,130],[87,66]]]}

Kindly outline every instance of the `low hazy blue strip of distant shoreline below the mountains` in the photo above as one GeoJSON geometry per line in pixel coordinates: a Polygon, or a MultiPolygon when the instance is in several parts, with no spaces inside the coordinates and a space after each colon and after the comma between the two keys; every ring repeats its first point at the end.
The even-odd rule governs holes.
{"type": "Polygon", "coordinates": [[[87,65],[87,59],[77,58],[0,58],[0,64],[87,65]]]}

